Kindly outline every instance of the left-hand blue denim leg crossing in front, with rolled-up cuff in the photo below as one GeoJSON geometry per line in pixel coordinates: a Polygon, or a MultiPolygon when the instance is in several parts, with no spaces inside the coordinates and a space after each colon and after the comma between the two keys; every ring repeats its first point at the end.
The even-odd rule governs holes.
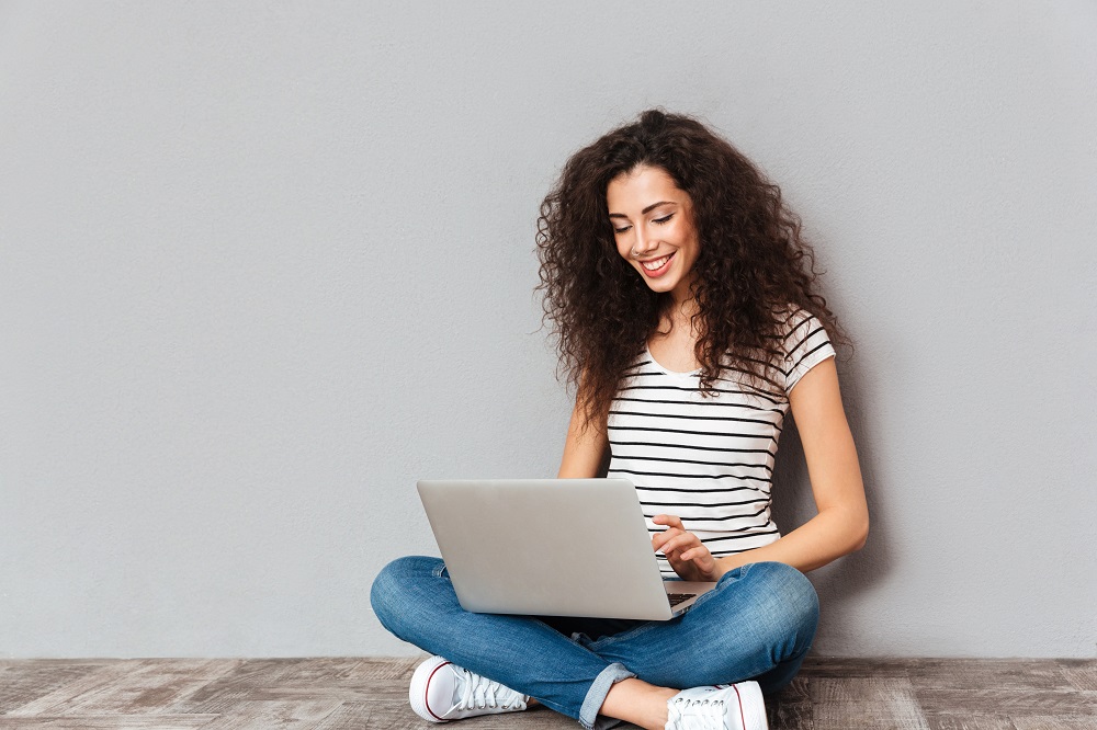
{"type": "Polygon", "coordinates": [[[370,593],[381,624],[400,639],[530,695],[586,728],[593,727],[613,683],[635,676],[534,617],[465,611],[444,568],[439,558],[426,557],[385,566],[370,593]]]}

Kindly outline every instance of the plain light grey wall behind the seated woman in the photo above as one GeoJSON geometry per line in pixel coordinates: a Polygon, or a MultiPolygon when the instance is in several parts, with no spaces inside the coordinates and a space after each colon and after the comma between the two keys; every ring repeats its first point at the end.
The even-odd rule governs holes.
{"type": "MultiPolygon", "coordinates": [[[[638,111],[779,181],[873,527],[816,651],[1097,655],[1092,2],[0,4],[0,655],[411,651],[414,481],[555,472],[538,204],[638,111]]],[[[794,433],[785,528],[811,515],[794,433]]]]}

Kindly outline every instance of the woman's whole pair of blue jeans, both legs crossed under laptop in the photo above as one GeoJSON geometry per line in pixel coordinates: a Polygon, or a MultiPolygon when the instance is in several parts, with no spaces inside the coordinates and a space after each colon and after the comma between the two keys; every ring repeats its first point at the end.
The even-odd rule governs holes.
{"type": "Polygon", "coordinates": [[[474,614],[457,603],[439,558],[385,566],[370,594],[400,639],[530,695],[585,728],[615,682],[640,677],[687,688],[754,678],[780,689],[800,670],[818,624],[818,598],[795,568],[756,562],[728,571],[669,621],[474,614]]]}

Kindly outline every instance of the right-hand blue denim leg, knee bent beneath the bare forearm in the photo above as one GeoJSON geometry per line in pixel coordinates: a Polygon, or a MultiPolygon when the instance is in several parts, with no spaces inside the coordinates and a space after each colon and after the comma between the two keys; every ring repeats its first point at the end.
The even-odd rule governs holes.
{"type": "Polygon", "coordinates": [[[795,676],[817,625],[818,597],[803,573],[780,562],[756,562],[725,573],[683,616],[584,643],[655,685],[754,678],[771,693],[795,676]]]}

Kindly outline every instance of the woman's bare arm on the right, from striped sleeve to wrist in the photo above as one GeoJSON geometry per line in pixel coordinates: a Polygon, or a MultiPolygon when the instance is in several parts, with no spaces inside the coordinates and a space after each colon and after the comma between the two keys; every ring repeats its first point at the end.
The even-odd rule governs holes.
{"type": "Polygon", "coordinates": [[[803,572],[861,549],[869,534],[857,448],[849,432],[834,360],[825,360],[789,393],[818,514],[776,543],[717,559],[716,573],[749,562],[784,562],[803,572]]]}

